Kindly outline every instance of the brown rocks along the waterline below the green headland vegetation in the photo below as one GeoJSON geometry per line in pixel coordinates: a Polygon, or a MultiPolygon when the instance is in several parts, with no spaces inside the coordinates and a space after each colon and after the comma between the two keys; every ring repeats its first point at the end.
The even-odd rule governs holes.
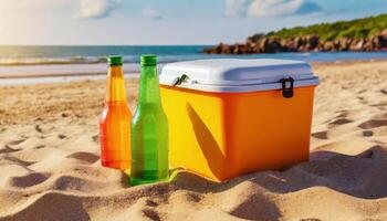
{"type": "Polygon", "coordinates": [[[223,44],[205,50],[208,54],[258,54],[276,52],[338,52],[338,51],[387,51],[387,30],[365,39],[339,38],[333,41],[307,35],[289,40],[255,34],[245,43],[223,44]]]}

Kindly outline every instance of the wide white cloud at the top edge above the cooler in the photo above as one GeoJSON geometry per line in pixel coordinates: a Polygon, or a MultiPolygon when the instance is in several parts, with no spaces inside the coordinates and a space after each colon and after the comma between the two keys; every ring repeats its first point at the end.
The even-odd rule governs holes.
{"type": "Polygon", "coordinates": [[[321,11],[311,0],[224,0],[227,17],[283,17],[321,11]]]}

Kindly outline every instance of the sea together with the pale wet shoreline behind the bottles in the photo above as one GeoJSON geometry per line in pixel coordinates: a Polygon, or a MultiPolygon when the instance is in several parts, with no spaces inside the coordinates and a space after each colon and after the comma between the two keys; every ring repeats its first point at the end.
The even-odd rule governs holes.
{"type": "Polygon", "coordinates": [[[139,56],[156,54],[160,65],[198,59],[286,59],[306,62],[387,59],[387,52],[318,52],[251,55],[202,53],[208,45],[169,46],[0,46],[0,85],[71,82],[106,76],[106,57],[122,55],[128,77],[139,73],[139,56]]]}

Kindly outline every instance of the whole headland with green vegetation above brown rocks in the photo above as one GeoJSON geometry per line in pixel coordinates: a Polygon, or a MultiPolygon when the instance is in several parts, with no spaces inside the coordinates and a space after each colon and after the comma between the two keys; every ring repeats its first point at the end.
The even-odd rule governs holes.
{"type": "Polygon", "coordinates": [[[252,54],[306,51],[387,50],[387,14],[308,27],[281,29],[249,36],[244,43],[206,49],[213,54],[252,54]]]}

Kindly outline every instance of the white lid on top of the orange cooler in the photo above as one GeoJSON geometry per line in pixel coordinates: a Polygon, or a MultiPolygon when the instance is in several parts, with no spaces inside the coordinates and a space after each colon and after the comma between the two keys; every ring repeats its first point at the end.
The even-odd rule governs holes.
{"type": "Polygon", "coordinates": [[[306,62],[273,59],[170,63],[163,67],[160,84],[205,92],[254,92],[280,90],[280,81],[289,77],[294,80],[294,87],[318,85],[318,77],[306,62]],[[185,81],[179,81],[184,75],[185,81]]]}

